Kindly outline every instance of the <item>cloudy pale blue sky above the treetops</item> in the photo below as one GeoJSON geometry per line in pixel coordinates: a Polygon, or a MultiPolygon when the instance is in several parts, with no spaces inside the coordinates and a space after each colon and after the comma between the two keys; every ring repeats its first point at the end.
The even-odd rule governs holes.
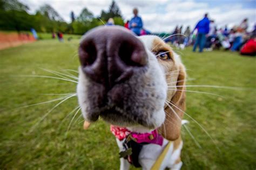
{"type": "MultiPolygon", "coordinates": [[[[83,8],[89,9],[96,17],[102,10],[108,10],[112,0],[21,0],[35,13],[39,6],[50,4],[66,22],[70,22],[70,12],[76,16],[83,8]]],[[[194,25],[208,13],[214,19],[218,28],[227,25],[231,28],[239,25],[244,18],[248,18],[249,30],[256,23],[256,0],[116,0],[125,20],[132,18],[132,9],[139,9],[139,16],[143,19],[144,28],[151,32],[171,32],[176,25],[183,28],[194,25]]],[[[185,30],[185,29],[184,29],[185,30]]]]}

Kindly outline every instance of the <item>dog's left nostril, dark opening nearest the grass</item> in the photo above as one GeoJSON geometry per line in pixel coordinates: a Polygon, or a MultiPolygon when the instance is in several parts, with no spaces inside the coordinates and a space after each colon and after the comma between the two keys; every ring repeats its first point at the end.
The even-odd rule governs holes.
{"type": "Polygon", "coordinates": [[[87,41],[79,47],[79,58],[82,66],[92,65],[97,58],[96,45],[92,41],[87,41]]]}

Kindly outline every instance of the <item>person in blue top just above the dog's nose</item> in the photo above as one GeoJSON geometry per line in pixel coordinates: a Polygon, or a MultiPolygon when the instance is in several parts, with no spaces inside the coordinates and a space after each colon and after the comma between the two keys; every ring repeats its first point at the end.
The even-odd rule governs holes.
{"type": "Polygon", "coordinates": [[[129,29],[136,33],[137,36],[140,36],[140,31],[143,28],[142,18],[138,17],[138,9],[133,9],[134,17],[129,22],[129,29]]]}

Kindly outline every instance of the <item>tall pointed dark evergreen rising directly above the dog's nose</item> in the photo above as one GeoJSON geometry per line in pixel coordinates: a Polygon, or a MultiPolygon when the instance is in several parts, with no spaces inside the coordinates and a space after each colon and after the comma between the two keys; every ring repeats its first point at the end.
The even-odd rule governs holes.
{"type": "Polygon", "coordinates": [[[122,18],[122,15],[116,2],[112,1],[112,3],[109,6],[109,11],[105,12],[104,10],[102,10],[100,18],[103,19],[104,21],[107,21],[109,18],[114,18],[114,17],[122,18]]]}

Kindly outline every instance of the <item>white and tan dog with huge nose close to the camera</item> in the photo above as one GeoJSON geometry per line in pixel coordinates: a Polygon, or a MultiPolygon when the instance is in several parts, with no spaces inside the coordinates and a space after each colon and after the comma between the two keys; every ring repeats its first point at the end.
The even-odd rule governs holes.
{"type": "Polygon", "coordinates": [[[90,30],[78,53],[77,94],[85,122],[101,117],[115,130],[125,130],[124,138],[116,139],[120,169],[134,162],[143,169],[180,169],[186,107],[186,71],[180,57],[161,38],[136,37],[120,26],[90,30]],[[142,135],[150,142],[134,142],[142,135]],[[138,150],[130,152],[129,142],[139,147],[138,160],[131,160],[138,150]]]}

